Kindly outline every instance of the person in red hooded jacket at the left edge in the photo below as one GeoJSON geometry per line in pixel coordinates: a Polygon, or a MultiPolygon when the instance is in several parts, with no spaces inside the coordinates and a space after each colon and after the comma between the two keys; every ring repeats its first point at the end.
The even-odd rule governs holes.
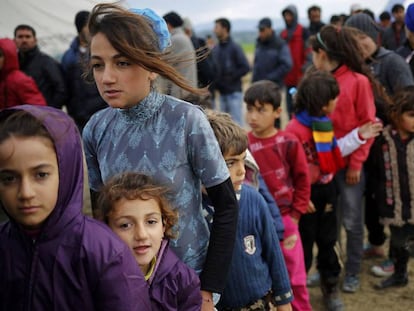
{"type": "Polygon", "coordinates": [[[19,70],[13,40],[0,39],[0,109],[30,104],[46,106],[35,81],[19,70]]]}

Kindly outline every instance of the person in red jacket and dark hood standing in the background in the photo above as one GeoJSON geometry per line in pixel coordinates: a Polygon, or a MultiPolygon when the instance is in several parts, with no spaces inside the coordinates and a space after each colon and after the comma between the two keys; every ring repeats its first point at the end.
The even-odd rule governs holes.
{"type": "Polygon", "coordinates": [[[291,4],[283,9],[282,17],[286,28],[282,30],[280,36],[288,44],[293,62],[292,69],[284,79],[287,113],[290,118],[294,110],[291,89],[296,88],[307,66],[309,32],[299,23],[298,10],[295,5],[291,4]]]}

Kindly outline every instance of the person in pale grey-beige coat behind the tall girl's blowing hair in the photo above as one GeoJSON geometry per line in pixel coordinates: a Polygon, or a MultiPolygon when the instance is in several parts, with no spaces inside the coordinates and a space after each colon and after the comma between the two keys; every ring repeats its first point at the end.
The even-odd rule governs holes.
{"type": "MultiPolygon", "coordinates": [[[[183,29],[184,21],[176,12],[168,12],[163,16],[171,33],[170,57],[176,60],[175,69],[188,81],[188,83],[196,87],[198,85],[196,51],[189,36],[183,29]],[[185,59],[186,63],[180,63],[179,59],[185,59]]],[[[167,79],[161,79],[161,91],[164,94],[184,99],[189,92],[182,89],[178,85],[167,79]]]]}

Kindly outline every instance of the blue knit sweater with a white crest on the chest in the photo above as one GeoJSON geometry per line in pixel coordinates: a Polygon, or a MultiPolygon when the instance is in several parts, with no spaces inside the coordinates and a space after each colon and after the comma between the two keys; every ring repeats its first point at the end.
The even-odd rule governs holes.
{"type": "Polygon", "coordinates": [[[279,239],[263,197],[243,185],[233,258],[219,307],[243,307],[272,289],[278,305],[293,300],[279,239]]]}

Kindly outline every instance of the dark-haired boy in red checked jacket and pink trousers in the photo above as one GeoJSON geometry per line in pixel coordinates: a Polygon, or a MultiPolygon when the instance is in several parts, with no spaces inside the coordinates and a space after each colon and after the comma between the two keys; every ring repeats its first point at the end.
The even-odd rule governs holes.
{"type": "Polygon", "coordinates": [[[283,257],[295,299],[293,310],[312,310],[306,287],[306,270],[298,223],[308,212],[310,180],[305,151],[295,135],[279,130],[280,89],[272,81],[252,83],[244,95],[249,150],[280,209],[285,227],[283,257]]]}

